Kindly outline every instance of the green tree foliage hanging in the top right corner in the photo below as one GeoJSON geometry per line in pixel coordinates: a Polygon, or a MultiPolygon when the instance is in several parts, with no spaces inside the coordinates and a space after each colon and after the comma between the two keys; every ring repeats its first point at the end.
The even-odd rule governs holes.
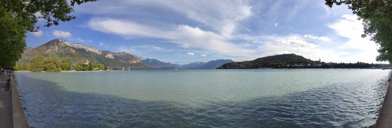
{"type": "Polygon", "coordinates": [[[325,0],[325,4],[346,4],[349,9],[363,20],[364,34],[370,36],[380,48],[377,61],[392,63],[392,0],[325,0]]]}

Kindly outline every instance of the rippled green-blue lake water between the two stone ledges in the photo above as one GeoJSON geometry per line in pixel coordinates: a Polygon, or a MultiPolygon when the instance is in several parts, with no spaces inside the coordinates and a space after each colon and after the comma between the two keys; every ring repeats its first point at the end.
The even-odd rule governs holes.
{"type": "Polygon", "coordinates": [[[390,70],[16,73],[34,128],[366,127],[390,70]]]}

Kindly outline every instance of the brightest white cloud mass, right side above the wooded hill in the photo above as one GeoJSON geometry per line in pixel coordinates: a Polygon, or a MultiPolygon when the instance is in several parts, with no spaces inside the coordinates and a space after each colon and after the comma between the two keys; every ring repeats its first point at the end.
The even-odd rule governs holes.
{"type": "Polygon", "coordinates": [[[325,36],[312,36],[312,35],[289,35],[289,36],[248,36],[240,35],[238,39],[244,39],[249,42],[258,44],[259,47],[256,51],[260,54],[255,56],[245,56],[245,60],[257,58],[257,56],[268,56],[282,53],[295,53],[302,55],[306,58],[325,62],[376,62],[375,57],[378,55],[377,49],[379,48],[368,37],[362,38],[363,33],[362,21],[357,20],[356,16],[343,15],[342,19],[329,24],[329,28],[336,31],[338,36],[348,39],[340,45],[330,45],[328,47],[320,47],[313,43],[307,42],[306,38],[316,39],[321,41],[330,41],[325,36]]]}

